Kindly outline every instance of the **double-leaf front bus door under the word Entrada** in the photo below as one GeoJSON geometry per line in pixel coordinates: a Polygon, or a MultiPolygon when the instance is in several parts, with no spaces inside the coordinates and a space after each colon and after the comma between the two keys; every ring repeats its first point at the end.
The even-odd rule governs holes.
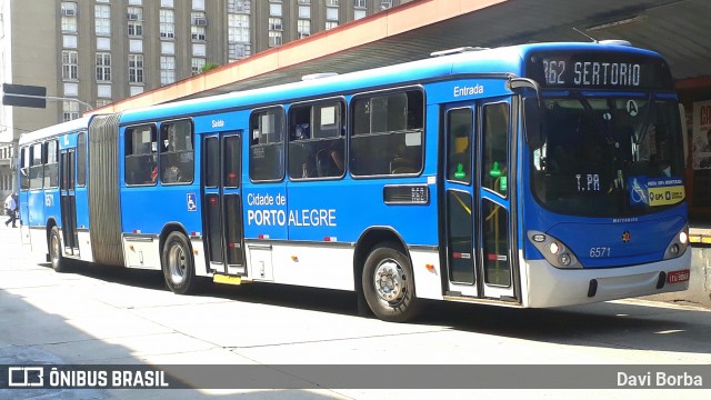
{"type": "Polygon", "coordinates": [[[510,102],[452,104],[444,119],[445,293],[517,301],[510,102]]]}

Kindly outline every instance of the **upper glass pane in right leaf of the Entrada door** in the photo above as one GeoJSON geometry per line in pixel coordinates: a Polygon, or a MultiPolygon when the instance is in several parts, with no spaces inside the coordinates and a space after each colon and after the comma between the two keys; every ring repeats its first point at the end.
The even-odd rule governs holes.
{"type": "Polygon", "coordinates": [[[508,192],[509,103],[487,104],[483,110],[482,187],[503,197],[508,192]]]}

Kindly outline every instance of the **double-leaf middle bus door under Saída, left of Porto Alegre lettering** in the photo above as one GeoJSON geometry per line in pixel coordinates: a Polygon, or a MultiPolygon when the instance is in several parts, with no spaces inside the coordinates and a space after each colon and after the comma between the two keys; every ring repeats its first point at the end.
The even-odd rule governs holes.
{"type": "Polygon", "coordinates": [[[207,136],[202,143],[206,253],[214,273],[244,276],[241,131],[207,136]]]}

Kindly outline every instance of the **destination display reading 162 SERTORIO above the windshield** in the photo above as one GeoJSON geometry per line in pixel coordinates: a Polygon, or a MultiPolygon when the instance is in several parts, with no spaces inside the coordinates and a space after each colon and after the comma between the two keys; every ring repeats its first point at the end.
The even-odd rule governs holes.
{"type": "Polygon", "coordinates": [[[548,89],[673,89],[663,60],[609,51],[535,52],[527,61],[527,77],[548,89]]]}

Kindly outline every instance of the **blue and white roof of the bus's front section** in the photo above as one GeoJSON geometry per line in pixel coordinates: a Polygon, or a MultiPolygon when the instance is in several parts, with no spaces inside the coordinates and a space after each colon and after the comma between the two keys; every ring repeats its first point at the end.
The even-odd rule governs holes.
{"type": "Polygon", "coordinates": [[[220,110],[293,101],[314,97],[340,96],[377,89],[392,84],[407,84],[453,74],[511,74],[521,76],[523,60],[531,51],[625,51],[659,57],[659,54],[617,43],[567,42],[532,43],[464,51],[450,56],[433,57],[401,64],[350,72],[316,80],[299,81],[247,91],[218,94],[184,101],[170,102],[141,109],[123,111],[121,124],[137,123],[171,117],[219,112],[220,110]]]}

